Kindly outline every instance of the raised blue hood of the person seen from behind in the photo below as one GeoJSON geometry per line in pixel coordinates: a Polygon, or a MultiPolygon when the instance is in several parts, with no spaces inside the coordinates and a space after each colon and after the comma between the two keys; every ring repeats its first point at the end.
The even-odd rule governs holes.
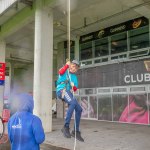
{"type": "Polygon", "coordinates": [[[27,111],[33,113],[34,101],[33,96],[23,93],[17,96],[18,99],[18,110],[19,111],[27,111]]]}

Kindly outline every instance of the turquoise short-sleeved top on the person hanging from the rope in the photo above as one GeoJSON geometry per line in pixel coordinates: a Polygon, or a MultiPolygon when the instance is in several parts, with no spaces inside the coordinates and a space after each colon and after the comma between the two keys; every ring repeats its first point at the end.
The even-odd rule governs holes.
{"type": "Polygon", "coordinates": [[[64,88],[66,88],[66,90],[70,90],[71,89],[70,81],[73,82],[76,87],[78,87],[78,79],[76,74],[68,73],[68,70],[66,70],[63,75],[59,74],[56,91],[58,92],[64,88]]]}

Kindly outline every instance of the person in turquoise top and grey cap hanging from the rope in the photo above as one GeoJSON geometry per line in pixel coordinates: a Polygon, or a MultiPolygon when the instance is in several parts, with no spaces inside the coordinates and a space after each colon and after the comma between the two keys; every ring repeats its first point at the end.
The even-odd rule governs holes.
{"type": "Polygon", "coordinates": [[[73,60],[72,62],[68,61],[66,65],[59,70],[56,94],[59,99],[63,99],[68,104],[65,124],[61,129],[64,137],[71,138],[71,136],[75,137],[76,134],[76,139],[84,142],[79,129],[82,108],[73,94],[78,88],[76,72],[78,71],[79,67],[79,62],[77,60],[73,60]],[[69,125],[74,110],[76,126],[70,134],[69,125]]]}

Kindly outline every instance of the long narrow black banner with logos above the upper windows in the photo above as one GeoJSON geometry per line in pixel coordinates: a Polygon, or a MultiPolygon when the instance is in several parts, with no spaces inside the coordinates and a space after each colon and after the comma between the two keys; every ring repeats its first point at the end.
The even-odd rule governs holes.
{"type": "Polygon", "coordinates": [[[100,39],[106,36],[111,36],[117,33],[121,33],[124,31],[129,31],[132,29],[137,29],[149,24],[149,21],[145,17],[136,18],[133,20],[129,20],[127,22],[111,26],[109,28],[105,28],[96,32],[92,32],[80,37],[80,43],[100,39]]]}

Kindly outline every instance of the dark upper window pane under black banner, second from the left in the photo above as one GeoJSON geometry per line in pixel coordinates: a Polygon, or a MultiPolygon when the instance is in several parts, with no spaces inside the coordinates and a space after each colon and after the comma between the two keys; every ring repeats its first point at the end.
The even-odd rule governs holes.
{"type": "Polygon", "coordinates": [[[95,57],[106,56],[108,54],[108,38],[95,41],[95,57]]]}

